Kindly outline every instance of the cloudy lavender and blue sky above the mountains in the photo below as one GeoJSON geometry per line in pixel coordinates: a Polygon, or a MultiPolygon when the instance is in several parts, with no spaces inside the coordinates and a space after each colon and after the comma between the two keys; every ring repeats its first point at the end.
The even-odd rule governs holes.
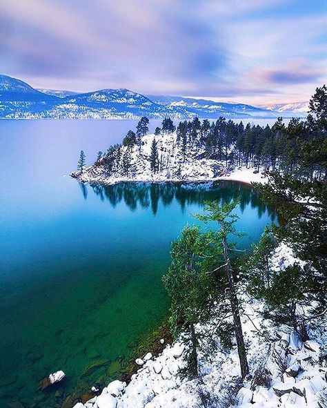
{"type": "Polygon", "coordinates": [[[327,83],[327,1],[0,0],[0,73],[77,92],[307,101],[327,83]]]}

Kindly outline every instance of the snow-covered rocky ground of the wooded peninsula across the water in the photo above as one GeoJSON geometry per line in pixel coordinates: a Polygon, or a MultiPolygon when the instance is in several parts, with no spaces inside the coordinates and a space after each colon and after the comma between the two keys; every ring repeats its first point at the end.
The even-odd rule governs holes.
{"type": "MultiPolygon", "coordinates": [[[[168,135],[146,135],[141,138],[141,148],[134,146],[130,151],[131,166],[128,175],[122,168],[114,168],[108,175],[103,165],[83,168],[71,173],[85,183],[116,184],[118,182],[207,182],[229,179],[250,184],[266,182],[266,177],[255,168],[239,168],[230,171],[225,161],[205,157],[204,148],[198,144],[189,146],[184,160],[181,143],[177,143],[176,133],[168,135]],[[150,169],[150,151],[153,139],[157,142],[160,168],[157,173],[150,169]]],[[[128,148],[121,148],[121,156],[128,148]]]]}

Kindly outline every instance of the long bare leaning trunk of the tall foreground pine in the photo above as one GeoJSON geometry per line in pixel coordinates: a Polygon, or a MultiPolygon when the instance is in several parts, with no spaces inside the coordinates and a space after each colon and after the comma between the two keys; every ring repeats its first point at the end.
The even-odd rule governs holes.
{"type": "MultiPolygon", "coordinates": [[[[223,226],[221,226],[223,228],[223,226]]],[[[239,364],[241,366],[241,377],[245,378],[248,375],[248,360],[246,359],[246,348],[244,344],[243,331],[241,326],[241,318],[239,316],[239,302],[235,291],[234,278],[232,276],[232,267],[228,255],[228,246],[226,237],[222,238],[224,249],[225,269],[228,277],[228,284],[230,289],[230,306],[232,309],[232,318],[234,322],[235,337],[237,342],[237,352],[239,354],[239,364]]]]}

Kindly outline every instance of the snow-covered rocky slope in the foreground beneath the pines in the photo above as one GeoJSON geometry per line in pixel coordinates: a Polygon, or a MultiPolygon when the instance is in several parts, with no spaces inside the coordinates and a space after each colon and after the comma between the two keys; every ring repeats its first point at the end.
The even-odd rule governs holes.
{"type": "MultiPolygon", "coordinates": [[[[272,262],[277,271],[295,258],[281,244],[272,262]]],[[[301,342],[292,329],[263,320],[263,304],[248,295],[243,300],[242,327],[251,374],[243,383],[236,346],[226,352],[218,339],[214,352],[200,356],[201,381],[181,381],[178,370],[184,366],[184,346],[176,342],[157,358],[150,353],[140,356],[140,369],[127,386],[119,380],[110,382],[101,395],[75,408],[326,408],[327,367],[321,358],[326,354],[326,329],[310,332],[310,340],[301,342]]],[[[212,320],[197,330],[209,330],[215,324],[212,320]]]]}

